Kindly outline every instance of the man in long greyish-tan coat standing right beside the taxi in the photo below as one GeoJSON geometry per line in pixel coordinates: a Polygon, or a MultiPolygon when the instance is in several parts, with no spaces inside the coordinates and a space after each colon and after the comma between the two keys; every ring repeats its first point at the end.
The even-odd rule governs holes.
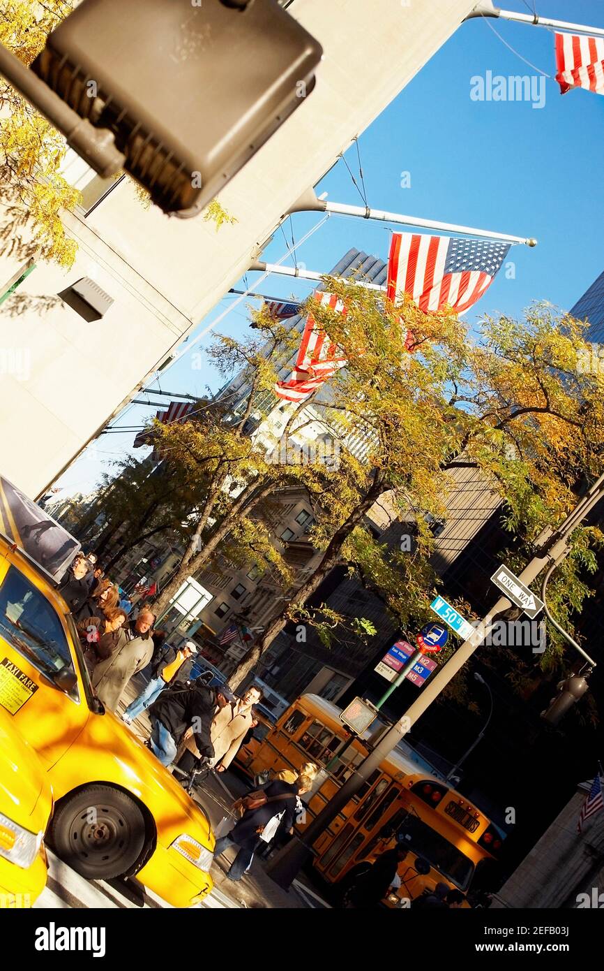
{"type": "Polygon", "coordinates": [[[142,671],[151,659],[153,641],[150,632],[154,620],[150,611],[144,611],[136,622],[126,623],[124,629],[128,640],[94,669],[92,684],[111,712],[117,711],[119,699],[130,679],[142,671]]]}

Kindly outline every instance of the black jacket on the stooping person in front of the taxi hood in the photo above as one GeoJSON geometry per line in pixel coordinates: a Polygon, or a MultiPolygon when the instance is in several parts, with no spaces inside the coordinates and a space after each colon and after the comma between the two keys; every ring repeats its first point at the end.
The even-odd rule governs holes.
{"type": "Polygon", "coordinates": [[[149,718],[161,721],[176,745],[182,733],[195,723],[193,738],[197,749],[201,755],[212,758],[214,748],[210,733],[216,704],[215,688],[197,686],[195,682],[184,687],[176,682],[164,688],[157,700],[149,706],[149,718]]]}

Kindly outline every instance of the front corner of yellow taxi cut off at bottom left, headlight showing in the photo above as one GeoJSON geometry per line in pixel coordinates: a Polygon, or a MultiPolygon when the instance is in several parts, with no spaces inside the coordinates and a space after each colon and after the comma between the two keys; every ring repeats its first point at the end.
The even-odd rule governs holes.
{"type": "Polygon", "coordinates": [[[46,887],[47,774],[0,708],[0,908],[31,907],[46,887]]]}

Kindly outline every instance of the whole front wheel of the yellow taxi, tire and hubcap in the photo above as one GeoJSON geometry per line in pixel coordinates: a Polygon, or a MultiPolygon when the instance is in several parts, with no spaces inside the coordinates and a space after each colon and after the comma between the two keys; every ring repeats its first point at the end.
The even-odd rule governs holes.
{"type": "Polygon", "coordinates": [[[132,870],[143,850],[143,814],[130,796],[111,786],[86,786],[58,803],[50,843],[88,880],[110,880],[132,870]]]}

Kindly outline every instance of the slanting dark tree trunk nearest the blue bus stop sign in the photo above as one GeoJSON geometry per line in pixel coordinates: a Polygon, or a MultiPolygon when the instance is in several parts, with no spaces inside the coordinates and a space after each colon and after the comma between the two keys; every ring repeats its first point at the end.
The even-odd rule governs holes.
{"type": "MultiPolygon", "coordinates": [[[[318,589],[327,575],[334,569],[334,566],[337,565],[342,546],[350,536],[353,529],[359,525],[362,519],[364,519],[366,512],[368,512],[373,503],[379,499],[380,495],[387,492],[389,488],[390,486],[386,485],[383,477],[379,475],[366,492],[366,495],[359,506],[334,532],[334,536],[330,540],[327,550],[324,552],[316,570],[300,587],[300,589],[292,594],[291,599],[295,603],[301,605],[304,604],[308,597],[311,596],[316,589],[318,589]]],[[[249,674],[249,672],[256,667],[262,654],[267,650],[270,644],[272,644],[277,634],[280,634],[286,624],[289,623],[291,617],[288,615],[288,607],[289,603],[286,604],[282,610],[273,615],[273,617],[269,620],[269,624],[262,637],[260,637],[249,649],[249,651],[243,655],[238,663],[238,666],[233,672],[233,675],[229,679],[229,684],[232,688],[237,688],[243,679],[249,674]]]]}

